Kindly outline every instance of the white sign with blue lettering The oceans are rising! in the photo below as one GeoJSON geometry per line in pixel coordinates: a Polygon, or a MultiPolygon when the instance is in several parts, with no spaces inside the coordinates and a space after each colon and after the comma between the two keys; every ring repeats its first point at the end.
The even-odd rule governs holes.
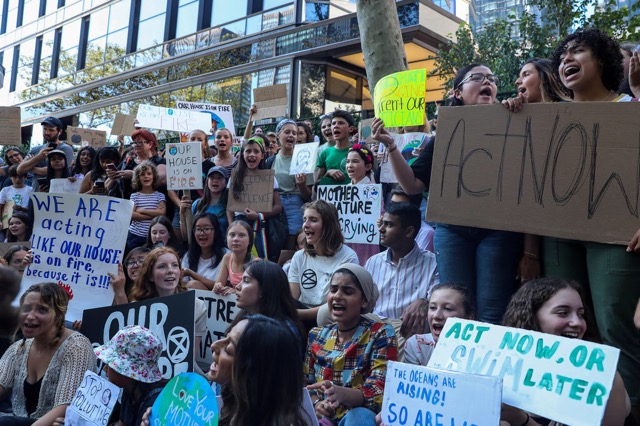
{"type": "Polygon", "coordinates": [[[382,422],[393,425],[497,425],[502,380],[387,362],[382,422]]]}

